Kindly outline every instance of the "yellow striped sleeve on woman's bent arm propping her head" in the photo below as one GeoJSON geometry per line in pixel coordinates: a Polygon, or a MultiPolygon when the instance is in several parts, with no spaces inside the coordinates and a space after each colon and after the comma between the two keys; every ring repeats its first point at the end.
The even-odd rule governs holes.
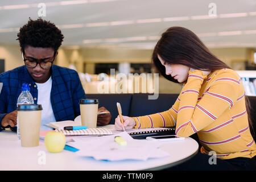
{"type": "MultiPolygon", "coordinates": [[[[199,91],[203,83],[202,78],[206,78],[203,72],[193,72],[193,77],[189,75],[186,88],[199,91]]],[[[200,101],[196,92],[184,92],[180,98],[176,134],[189,137],[214,122],[222,113],[233,107],[240,94],[239,87],[240,81],[236,75],[223,72],[218,74],[200,101]]]]}

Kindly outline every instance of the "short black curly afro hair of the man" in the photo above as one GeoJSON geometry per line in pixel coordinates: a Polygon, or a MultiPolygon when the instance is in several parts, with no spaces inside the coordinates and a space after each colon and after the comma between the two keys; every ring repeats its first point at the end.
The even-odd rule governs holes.
{"type": "Polygon", "coordinates": [[[57,51],[63,42],[64,36],[54,23],[42,18],[32,20],[20,27],[18,33],[19,45],[24,50],[26,46],[53,48],[57,51]]]}

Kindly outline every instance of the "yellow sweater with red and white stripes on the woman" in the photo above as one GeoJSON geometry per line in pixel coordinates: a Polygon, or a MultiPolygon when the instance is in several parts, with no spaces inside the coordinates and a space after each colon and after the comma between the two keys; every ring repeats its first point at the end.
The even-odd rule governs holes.
{"type": "Polygon", "coordinates": [[[215,151],[220,159],[252,158],[256,144],[251,136],[241,78],[232,69],[219,69],[208,76],[189,71],[171,109],[133,117],[135,128],[176,126],[176,135],[197,133],[201,152],[215,151]]]}

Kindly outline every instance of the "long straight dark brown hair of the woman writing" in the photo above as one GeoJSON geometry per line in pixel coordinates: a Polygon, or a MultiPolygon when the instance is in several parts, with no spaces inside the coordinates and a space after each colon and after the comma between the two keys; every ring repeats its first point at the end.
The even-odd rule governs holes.
{"type": "MultiPolygon", "coordinates": [[[[158,55],[169,64],[182,64],[189,68],[216,71],[230,68],[214,56],[196,34],[184,27],[171,27],[165,31],[152,53],[152,61],[159,73],[172,82],[176,82],[171,75],[166,75],[165,67],[160,63],[158,55]]],[[[254,133],[253,123],[250,119],[250,102],[245,96],[246,111],[251,134],[254,133]]]]}

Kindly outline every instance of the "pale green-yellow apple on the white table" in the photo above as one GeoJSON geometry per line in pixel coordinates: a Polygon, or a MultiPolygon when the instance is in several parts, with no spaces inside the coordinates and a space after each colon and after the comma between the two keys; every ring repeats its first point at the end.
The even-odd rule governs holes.
{"type": "Polygon", "coordinates": [[[61,152],[65,147],[66,137],[63,133],[50,131],[44,138],[44,144],[49,152],[61,152]]]}

